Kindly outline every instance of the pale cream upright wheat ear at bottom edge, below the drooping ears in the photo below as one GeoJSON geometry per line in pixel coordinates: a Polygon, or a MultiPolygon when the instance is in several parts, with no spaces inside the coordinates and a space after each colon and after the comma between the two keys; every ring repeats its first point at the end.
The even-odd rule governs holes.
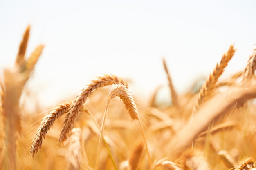
{"type": "Polygon", "coordinates": [[[67,170],[80,170],[82,161],[81,145],[82,136],[80,128],[73,128],[69,137],[70,141],[67,150],[67,170]]]}

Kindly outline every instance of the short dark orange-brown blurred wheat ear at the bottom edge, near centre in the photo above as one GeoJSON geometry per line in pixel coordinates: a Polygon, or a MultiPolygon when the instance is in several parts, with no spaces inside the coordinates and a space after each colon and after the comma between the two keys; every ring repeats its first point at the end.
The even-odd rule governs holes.
{"type": "Polygon", "coordinates": [[[132,154],[130,155],[130,158],[129,158],[130,170],[137,170],[137,168],[139,167],[139,161],[142,156],[143,148],[144,147],[141,142],[137,144],[135,148],[133,148],[132,154]]]}

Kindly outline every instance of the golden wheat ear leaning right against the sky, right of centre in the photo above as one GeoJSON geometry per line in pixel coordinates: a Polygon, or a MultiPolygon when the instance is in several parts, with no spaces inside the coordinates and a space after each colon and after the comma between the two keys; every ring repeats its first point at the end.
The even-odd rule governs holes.
{"type": "Polygon", "coordinates": [[[226,68],[228,62],[231,60],[235,53],[234,46],[231,45],[229,47],[229,50],[227,53],[225,53],[221,60],[220,63],[217,63],[216,67],[213,70],[213,73],[210,74],[206,82],[202,85],[202,88],[200,89],[200,92],[198,93],[198,98],[195,102],[194,108],[193,108],[193,113],[197,110],[197,108],[200,106],[200,104],[209,98],[211,94],[213,93],[213,90],[216,88],[216,83],[219,79],[219,77],[222,75],[224,69],[226,68]]]}

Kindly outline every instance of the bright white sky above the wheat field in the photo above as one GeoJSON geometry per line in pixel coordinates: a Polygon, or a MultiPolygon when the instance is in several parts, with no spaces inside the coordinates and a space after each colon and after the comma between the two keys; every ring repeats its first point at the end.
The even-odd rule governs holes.
{"type": "Polygon", "coordinates": [[[12,66],[31,25],[27,56],[45,44],[28,88],[45,106],[69,99],[95,76],[133,81],[150,96],[168,82],[165,57],[178,93],[207,77],[234,43],[226,74],[246,65],[256,44],[253,0],[1,0],[0,68],[12,66]]]}

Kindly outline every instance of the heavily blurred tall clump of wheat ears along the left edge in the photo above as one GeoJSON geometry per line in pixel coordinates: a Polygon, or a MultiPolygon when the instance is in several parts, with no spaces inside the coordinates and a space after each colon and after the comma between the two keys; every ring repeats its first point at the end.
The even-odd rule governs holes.
{"type": "Polygon", "coordinates": [[[4,166],[9,170],[16,170],[17,155],[16,142],[18,135],[21,135],[22,126],[19,99],[23,88],[26,85],[34,66],[38,61],[43,45],[39,45],[26,59],[25,53],[29,40],[30,26],[27,27],[23,40],[20,43],[15,66],[12,69],[5,69],[1,82],[1,156],[0,167],[4,166]],[[7,154],[5,154],[5,152],[7,154]]]}

